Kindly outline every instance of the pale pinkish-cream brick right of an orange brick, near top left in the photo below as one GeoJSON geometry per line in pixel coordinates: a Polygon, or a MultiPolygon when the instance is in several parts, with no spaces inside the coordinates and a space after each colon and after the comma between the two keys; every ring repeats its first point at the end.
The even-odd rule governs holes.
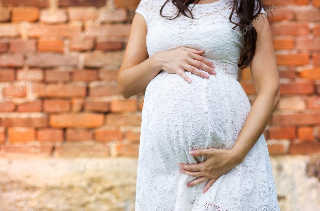
{"type": "Polygon", "coordinates": [[[46,9],[40,12],[40,21],[44,23],[64,23],[67,19],[67,12],[65,10],[46,9]]]}

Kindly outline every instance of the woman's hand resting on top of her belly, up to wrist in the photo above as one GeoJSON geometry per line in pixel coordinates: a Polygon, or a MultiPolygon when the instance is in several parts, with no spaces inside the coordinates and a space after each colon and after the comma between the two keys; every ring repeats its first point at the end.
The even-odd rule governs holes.
{"type": "Polygon", "coordinates": [[[201,56],[203,54],[203,50],[181,47],[166,52],[156,53],[152,57],[161,70],[179,74],[188,83],[191,83],[191,79],[184,72],[185,70],[205,79],[209,78],[209,74],[217,74],[214,70],[215,65],[201,56]],[[204,70],[205,72],[202,72],[199,69],[204,70]]]}

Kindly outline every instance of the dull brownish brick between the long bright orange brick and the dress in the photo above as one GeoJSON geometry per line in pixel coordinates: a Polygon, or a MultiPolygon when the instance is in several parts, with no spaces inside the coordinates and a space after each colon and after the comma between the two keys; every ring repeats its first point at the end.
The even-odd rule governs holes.
{"type": "Polygon", "coordinates": [[[123,125],[141,125],[141,115],[135,113],[125,114],[107,114],[107,125],[123,126],[123,125]]]}

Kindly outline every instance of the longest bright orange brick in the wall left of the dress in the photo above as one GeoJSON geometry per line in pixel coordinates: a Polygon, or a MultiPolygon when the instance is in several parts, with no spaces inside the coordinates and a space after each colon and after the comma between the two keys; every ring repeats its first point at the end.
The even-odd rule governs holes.
{"type": "Polygon", "coordinates": [[[49,118],[52,127],[83,127],[91,128],[103,125],[103,114],[80,113],[80,114],[52,114],[49,118]]]}

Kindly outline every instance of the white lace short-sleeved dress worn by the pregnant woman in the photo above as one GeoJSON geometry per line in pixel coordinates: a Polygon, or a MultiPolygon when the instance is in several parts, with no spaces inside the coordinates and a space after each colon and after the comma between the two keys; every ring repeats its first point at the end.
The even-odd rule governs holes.
{"type": "MultiPolygon", "coordinates": [[[[229,170],[202,193],[205,182],[180,173],[178,163],[199,163],[189,151],[198,148],[231,149],[251,109],[237,81],[243,38],[230,23],[232,0],[195,5],[195,19],[180,15],[165,20],[159,11],[165,0],[142,0],[136,12],[146,20],[149,56],[188,47],[204,50],[217,75],[203,79],[186,72],[160,72],[148,84],[142,110],[136,211],[277,211],[269,153],[262,135],[244,162],[229,170]]],[[[190,5],[190,8],[193,5],[190,5]]],[[[171,1],[163,14],[177,11],[171,1]]],[[[262,11],[265,13],[265,11],[262,11]]],[[[236,13],[233,17],[238,20],[236,13]]],[[[266,70],[268,71],[268,70],[266,70]]]]}

